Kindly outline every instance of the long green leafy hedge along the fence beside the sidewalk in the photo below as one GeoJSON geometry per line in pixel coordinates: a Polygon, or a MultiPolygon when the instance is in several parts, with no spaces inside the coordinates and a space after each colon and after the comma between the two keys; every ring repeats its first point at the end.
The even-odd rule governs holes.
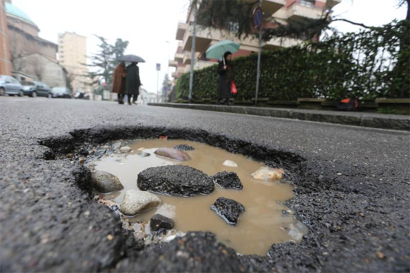
{"type": "MultiPolygon", "coordinates": [[[[406,23],[333,36],[319,43],[263,51],[259,97],[340,99],[408,98],[409,46],[406,23]],[[404,60],[404,61],[403,61],[404,60]]],[[[233,60],[237,99],[255,97],[257,54],[233,60]]],[[[193,98],[216,98],[216,65],[194,72],[193,98]]],[[[189,73],[181,75],[177,98],[187,99],[189,73]]]]}

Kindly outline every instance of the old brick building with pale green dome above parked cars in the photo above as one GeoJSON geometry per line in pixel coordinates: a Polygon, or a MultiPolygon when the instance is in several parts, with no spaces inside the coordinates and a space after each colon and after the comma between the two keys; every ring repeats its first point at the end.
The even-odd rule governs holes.
{"type": "Polygon", "coordinates": [[[65,69],[56,59],[57,44],[40,38],[37,25],[11,0],[5,8],[12,75],[20,81],[34,79],[51,87],[66,86],[65,69]]]}

